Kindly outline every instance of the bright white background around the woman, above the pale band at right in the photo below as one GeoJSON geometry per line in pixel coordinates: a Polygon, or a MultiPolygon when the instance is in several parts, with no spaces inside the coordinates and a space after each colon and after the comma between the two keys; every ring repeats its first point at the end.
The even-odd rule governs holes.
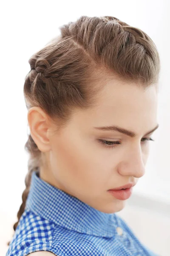
{"type": "Polygon", "coordinates": [[[27,109],[23,84],[28,59],[51,38],[59,26],[82,15],[114,16],[142,29],[159,51],[159,128],[150,142],[145,175],[133,193],[170,204],[170,7],[168,0],[121,1],[5,1],[1,4],[0,36],[0,211],[15,218],[22,203],[28,155],[27,109]]]}

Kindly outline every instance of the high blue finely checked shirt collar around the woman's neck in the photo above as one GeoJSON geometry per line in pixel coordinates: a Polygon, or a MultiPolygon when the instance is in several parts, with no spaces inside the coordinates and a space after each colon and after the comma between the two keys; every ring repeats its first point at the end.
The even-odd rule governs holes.
{"type": "Polygon", "coordinates": [[[105,213],[85,204],[42,180],[38,171],[31,174],[26,208],[55,224],[80,233],[112,237],[116,233],[115,213],[105,213]]]}

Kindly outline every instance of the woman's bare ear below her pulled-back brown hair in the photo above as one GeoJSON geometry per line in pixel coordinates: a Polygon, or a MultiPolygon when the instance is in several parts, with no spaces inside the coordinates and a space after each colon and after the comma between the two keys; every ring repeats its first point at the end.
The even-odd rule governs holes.
{"type": "Polygon", "coordinates": [[[28,110],[28,125],[31,137],[42,152],[51,150],[48,139],[50,122],[47,114],[40,107],[32,107],[28,110]]]}

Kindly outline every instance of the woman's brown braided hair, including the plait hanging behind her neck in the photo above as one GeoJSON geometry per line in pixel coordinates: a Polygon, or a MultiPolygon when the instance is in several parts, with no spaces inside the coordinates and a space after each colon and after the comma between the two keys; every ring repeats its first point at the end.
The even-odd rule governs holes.
{"type": "MultiPolygon", "coordinates": [[[[149,87],[159,80],[160,59],[156,45],[142,30],[116,17],[81,16],[60,27],[61,35],[53,38],[29,59],[31,70],[24,83],[27,109],[38,106],[61,127],[74,108],[91,108],[97,92],[107,79],[136,82],[149,87]],[[95,82],[98,81],[97,87],[95,82]]],[[[17,213],[17,228],[24,212],[32,172],[43,160],[31,134],[25,144],[29,153],[26,189],[17,213]]],[[[8,242],[9,245],[10,242],[8,242]]]]}

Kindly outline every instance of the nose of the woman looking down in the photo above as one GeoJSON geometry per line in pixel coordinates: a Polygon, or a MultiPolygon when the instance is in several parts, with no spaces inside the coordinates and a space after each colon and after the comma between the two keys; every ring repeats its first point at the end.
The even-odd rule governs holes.
{"type": "Polygon", "coordinates": [[[125,159],[119,164],[119,173],[124,176],[142,177],[145,173],[145,164],[141,147],[129,149],[125,156],[125,159]]]}

